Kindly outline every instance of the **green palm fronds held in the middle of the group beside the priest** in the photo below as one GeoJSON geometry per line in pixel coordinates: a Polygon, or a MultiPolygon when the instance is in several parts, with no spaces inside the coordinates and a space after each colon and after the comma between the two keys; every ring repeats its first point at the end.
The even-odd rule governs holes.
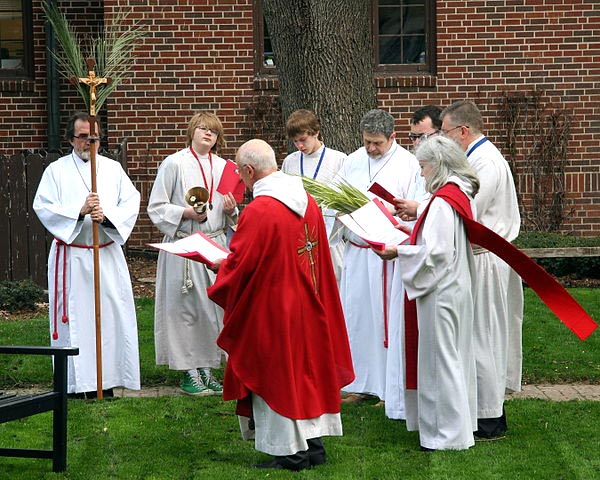
{"type": "Polygon", "coordinates": [[[302,177],[302,181],[304,189],[312,195],[321,208],[352,213],[369,203],[369,197],[346,181],[335,182],[332,185],[308,177],[302,177]]]}

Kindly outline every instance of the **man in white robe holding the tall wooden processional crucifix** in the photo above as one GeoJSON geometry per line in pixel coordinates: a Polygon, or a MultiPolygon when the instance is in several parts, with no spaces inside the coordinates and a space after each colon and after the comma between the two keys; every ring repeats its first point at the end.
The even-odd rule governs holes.
{"type": "Polygon", "coordinates": [[[66,138],[73,150],[46,168],[33,207],[54,236],[48,261],[51,343],[80,351],[69,358],[67,391],[101,399],[112,387],[140,388],[133,291],[121,248],[135,225],[140,194],[118,162],[96,155],[95,92],[109,79],[96,77],[93,68],[88,60],[88,77],[77,79],[90,88],[90,114],[69,120],[66,138]]]}

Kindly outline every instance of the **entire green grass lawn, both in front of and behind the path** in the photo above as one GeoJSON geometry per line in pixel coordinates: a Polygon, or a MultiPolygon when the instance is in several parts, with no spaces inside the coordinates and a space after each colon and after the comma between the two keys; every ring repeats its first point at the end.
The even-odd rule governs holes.
{"type": "MultiPolygon", "coordinates": [[[[596,319],[598,290],[572,294],[596,319]]],[[[525,292],[524,380],[600,383],[600,332],[578,340],[525,292]]],[[[179,374],[154,365],[152,299],[137,300],[143,385],[177,385],[179,374]]],[[[3,344],[46,345],[48,319],[0,321],[3,344]]],[[[48,385],[39,357],[0,356],[0,389],[48,385]]],[[[507,439],[462,452],[422,453],[418,435],[382,408],[344,405],[344,436],[325,439],[329,462],[300,473],[252,470],[267,459],[243,442],[232,402],[183,396],[69,401],[68,473],[51,462],[0,457],[0,479],[560,479],[600,478],[600,402],[510,400],[507,439]]],[[[0,446],[48,448],[51,415],[0,424],[0,446]]]]}

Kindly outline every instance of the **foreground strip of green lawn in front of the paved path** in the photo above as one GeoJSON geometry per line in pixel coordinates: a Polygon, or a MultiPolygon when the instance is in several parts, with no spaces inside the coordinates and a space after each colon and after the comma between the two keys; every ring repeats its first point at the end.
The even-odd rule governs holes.
{"type": "MultiPolygon", "coordinates": [[[[561,479],[598,478],[600,402],[510,400],[506,439],[467,451],[420,452],[418,435],[382,408],[344,405],[329,461],[300,473],[253,470],[268,457],[241,440],[232,402],[162,397],[69,401],[68,473],[0,458],[4,479],[561,479]]],[[[0,425],[2,446],[49,447],[49,414],[0,425]]]]}

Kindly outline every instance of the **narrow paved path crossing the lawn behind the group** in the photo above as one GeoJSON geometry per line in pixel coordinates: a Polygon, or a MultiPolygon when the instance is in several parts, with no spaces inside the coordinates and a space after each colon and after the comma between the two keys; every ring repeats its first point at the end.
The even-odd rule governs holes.
{"type": "MultiPolygon", "coordinates": [[[[184,395],[178,387],[149,387],[142,390],[116,388],[117,397],[160,397],[163,395],[184,395]]],[[[523,390],[506,396],[511,398],[540,398],[563,402],[567,400],[600,401],[600,385],[523,385],[523,390]]]]}

